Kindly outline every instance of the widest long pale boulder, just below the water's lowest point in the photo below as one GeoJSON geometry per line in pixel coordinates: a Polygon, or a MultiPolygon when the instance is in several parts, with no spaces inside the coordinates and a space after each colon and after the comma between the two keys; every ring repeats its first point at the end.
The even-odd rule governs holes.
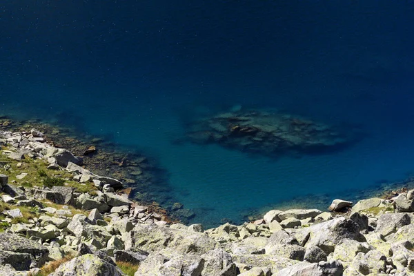
{"type": "Polygon", "coordinates": [[[170,248],[176,253],[201,255],[218,247],[217,242],[204,233],[171,229],[154,224],[137,224],[123,237],[126,250],[133,251],[137,248],[150,253],[170,248]]]}

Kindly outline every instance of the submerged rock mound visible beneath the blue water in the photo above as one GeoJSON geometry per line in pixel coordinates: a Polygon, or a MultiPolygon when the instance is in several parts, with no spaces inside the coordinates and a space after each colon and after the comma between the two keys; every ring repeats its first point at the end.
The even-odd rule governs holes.
{"type": "Polygon", "coordinates": [[[355,141],[352,131],[345,133],[299,116],[262,110],[222,112],[193,121],[186,138],[197,144],[219,144],[268,156],[286,150],[333,149],[355,141]]]}

